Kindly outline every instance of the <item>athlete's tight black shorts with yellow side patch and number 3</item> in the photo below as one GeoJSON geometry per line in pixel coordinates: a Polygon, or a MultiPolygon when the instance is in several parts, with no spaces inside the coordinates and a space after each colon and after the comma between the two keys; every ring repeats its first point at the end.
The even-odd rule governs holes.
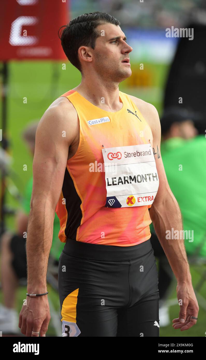
{"type": "Polygon", "coordinates": [[[159,336],[158,275],[150,240],[120,247],[67,239],[58,282],[63,336],[159,336]]]}

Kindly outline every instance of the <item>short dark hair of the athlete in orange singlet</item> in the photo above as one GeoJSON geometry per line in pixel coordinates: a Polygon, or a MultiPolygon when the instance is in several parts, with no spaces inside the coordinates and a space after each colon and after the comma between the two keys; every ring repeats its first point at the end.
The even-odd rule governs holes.
{"type": "Polygon", "coordinates": [[[58,37],[61,39],[62,48],[68,60],[81,72],[81,64],[78,57],[80,46],[95,48],[95,42],[99,36],[95,28],[101,24],[120,25],[120,22],[107,13],[96,11],[94,13],[79,15],[63,25],[58,30],[58,37]],[[64,28],[64,29],[63,29],[64,28]]]}

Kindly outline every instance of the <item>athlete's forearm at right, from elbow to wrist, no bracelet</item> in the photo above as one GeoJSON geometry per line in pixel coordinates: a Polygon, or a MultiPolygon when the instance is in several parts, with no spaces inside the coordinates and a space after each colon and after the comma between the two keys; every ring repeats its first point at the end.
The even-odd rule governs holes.
{"type": "Polygon", "coordinates": [[[180,208],[173,193],[168,191],[161,203],[155,204],[154,201],[149,215],[178,283],[191,282],[184,239],[166,238],[167,230],[171,231],[172,228],[178,231],[183,230],[180,208]]]}

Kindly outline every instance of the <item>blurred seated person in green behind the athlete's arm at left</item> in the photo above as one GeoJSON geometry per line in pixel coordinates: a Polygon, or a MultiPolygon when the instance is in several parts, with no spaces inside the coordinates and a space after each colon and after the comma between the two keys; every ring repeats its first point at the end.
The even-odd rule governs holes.
{"type": "MultiPolygon", "coordinates": [[[[23,132],[23,140],[26,141],[32,158],[35,150],[35,134],[39,121],[30,123],[23,132]]],[[[15,223],[16,233],[6,231],[1,238],[1,282],[3,289],[4,305],[0,304],[0,330],[4,333],[19,332],[19,315],[16,310],[16,292],[20,279],[27,278],[26,260],[26,231],[30,201],[32,193],[33,176],[28,181],[24,191],[22,202],[23,210],[17,212],[15,223]],[[24,235],[24,236],[23,236],[24,235]]],[[[55,214],[53,243],[51,255],[55,259],[54,265],[58,266],[58,259],[63,245],[58,239],[59,219],[55,214]],[[58,239],[58,241],[56,241],[58,239]]]]}

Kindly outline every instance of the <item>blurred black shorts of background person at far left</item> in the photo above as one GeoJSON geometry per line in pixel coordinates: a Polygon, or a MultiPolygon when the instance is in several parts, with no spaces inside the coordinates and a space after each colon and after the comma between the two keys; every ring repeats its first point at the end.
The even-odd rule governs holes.
{"type": "Polygon", "coordinates": [[[27,278],[26,239],[19,235],[14,235],[11,238],[10,249],[13,254],[12,267],[17,278],[27,278]]]}

